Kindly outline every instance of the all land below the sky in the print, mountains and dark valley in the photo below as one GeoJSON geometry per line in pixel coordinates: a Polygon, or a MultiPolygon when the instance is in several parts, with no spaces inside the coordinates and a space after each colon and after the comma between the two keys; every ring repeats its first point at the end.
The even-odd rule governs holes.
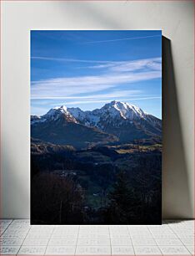
{"type": "Polygon", "coordinates": [[[84,124],[64,106],[32,117],[32,223],[141,224],[146,218],[149,223],[161,219],[160,121],[141,110],[139,116],[125,116],[112,108],[115,101],[108,113],[101,110],[98,125],[84,124]],[[109,113],[116,115],[107,120],[109,113]],[[102,129],[100,120],[107,120],[102,129]],[[122,135],[125,128],[133,136],[108,133],[108,126],[122,135]]]}

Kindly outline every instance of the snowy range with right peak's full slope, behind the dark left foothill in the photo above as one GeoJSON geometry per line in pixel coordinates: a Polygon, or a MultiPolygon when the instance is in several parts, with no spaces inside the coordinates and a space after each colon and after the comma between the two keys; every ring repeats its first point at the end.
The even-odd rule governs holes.
{"type": "Polygon", "coordinates": [[[57,123],[63,120],[85,127],[95,128],[97,131],[117,136],[119,141],[128,142],[161,136],[162,120],[144,112],[138,106],[113,100],[101,109],[82,111],[79,108],[67,108],[62,105],[40,117],[32,115],[32,127],[38,124],[57,123]]]}

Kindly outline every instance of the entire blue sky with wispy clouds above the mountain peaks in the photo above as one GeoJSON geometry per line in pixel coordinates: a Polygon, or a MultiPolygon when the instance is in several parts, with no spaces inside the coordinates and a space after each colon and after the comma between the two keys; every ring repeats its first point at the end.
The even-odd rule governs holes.
{"type": "Polygon", "coordinates": [[[120,100],[162,118],[160,30],[31,31],[31,114],[120,100]]]}

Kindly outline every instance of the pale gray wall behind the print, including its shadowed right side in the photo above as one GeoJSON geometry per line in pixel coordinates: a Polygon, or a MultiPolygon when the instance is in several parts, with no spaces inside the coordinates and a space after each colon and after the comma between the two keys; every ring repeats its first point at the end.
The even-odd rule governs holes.
{"type": "Polygon", "coordinates": [[[193,1],[2,2],[2,218],[28,218],[30,29],[162,29],[163,218],[193,218],[193,1]]]}

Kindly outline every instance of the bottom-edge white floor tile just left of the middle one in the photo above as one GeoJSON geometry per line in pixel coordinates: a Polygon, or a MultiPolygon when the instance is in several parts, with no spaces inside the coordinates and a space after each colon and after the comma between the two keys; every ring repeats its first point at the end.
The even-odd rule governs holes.
{"type": "Polygon", "coordinates": [[[48,246],[46,255],[74,255],[75,246],[48,246]]]}

